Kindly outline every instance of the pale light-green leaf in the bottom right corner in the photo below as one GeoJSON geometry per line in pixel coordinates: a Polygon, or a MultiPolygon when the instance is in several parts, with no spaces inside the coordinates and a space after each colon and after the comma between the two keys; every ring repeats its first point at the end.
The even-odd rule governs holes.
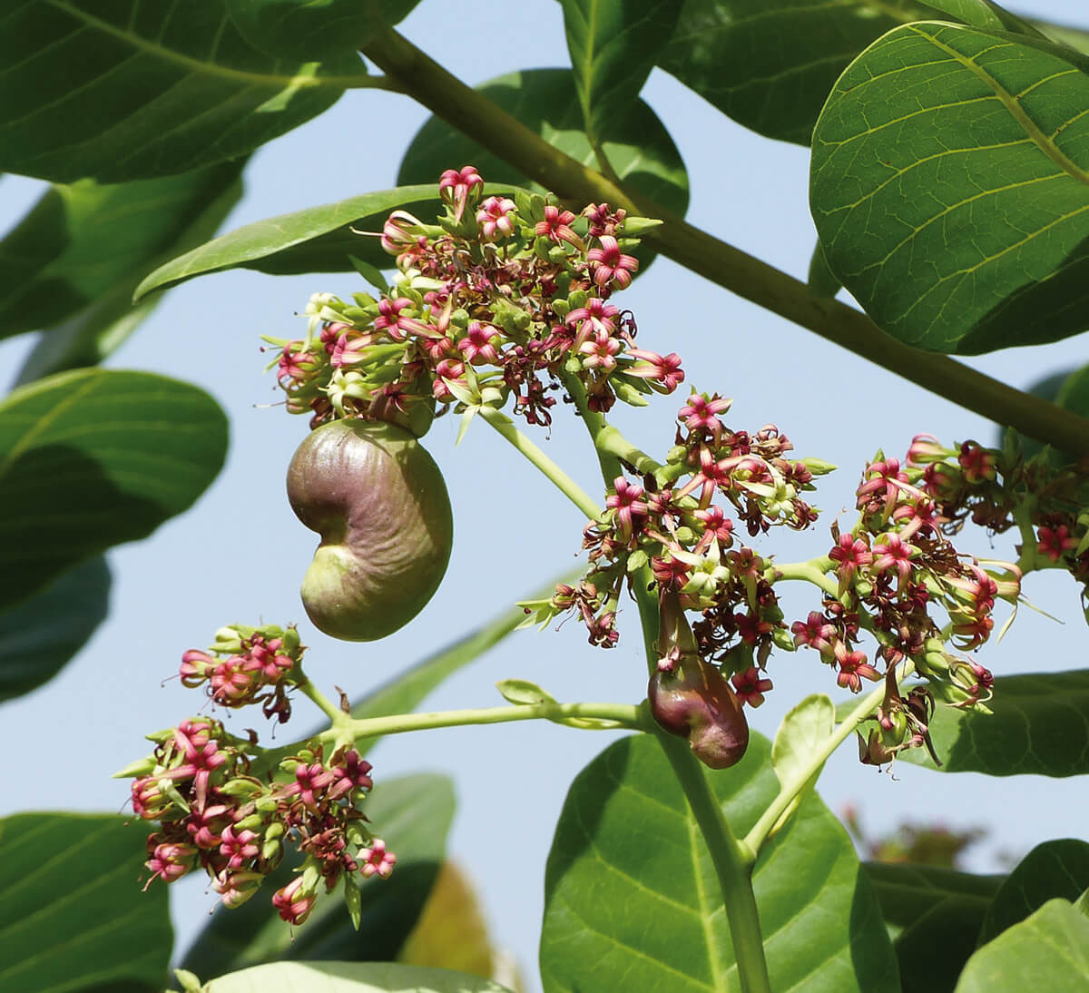
{"type": "Polygon", "coordinates": [[[1087,988],[1089,918],[1054,899],[976,952],[956,993],[1084,993],[1087,988]]]}

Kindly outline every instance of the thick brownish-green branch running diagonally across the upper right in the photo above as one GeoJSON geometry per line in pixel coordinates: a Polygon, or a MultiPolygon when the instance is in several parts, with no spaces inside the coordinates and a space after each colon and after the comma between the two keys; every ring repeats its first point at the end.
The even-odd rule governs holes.
{"type": "Polygon", "coordinates": [[[628,195],[500,110],[392,28],[379,28],[363,53],[417,102],[561,200],[578,207],[604,200],[658,218],[664,223],[648,232],[648,241],[693,272],[983,417],[1072,453],[1089,452],[1089,420],[954,359],[911,348],[853,307],[816,297],[799,280],[687,224],[645,196],[628,195]]]}

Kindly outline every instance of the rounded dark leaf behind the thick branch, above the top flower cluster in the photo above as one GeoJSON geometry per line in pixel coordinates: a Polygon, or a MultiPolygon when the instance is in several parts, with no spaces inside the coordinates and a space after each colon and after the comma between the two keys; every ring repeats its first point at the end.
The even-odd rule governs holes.
{"type": "MultiPolygon", "coordinates": [[[[477,89],[554,148],[584,166],[597,168],[568,70],[511,73],[477,89]]],[[[654,112],[643,100],[632,99],[627,113],[610,119],[602,128],[602,147],[620,177],[633,189],[683,216],[688,207],[688,176],[681,154],[654,112]]],[[[433,183],[444,169],[464,162],[472,162],[491,182],[543,192],[518,170],[438,118],[431,118],[413,138],[397,182],[433,183]]]]}

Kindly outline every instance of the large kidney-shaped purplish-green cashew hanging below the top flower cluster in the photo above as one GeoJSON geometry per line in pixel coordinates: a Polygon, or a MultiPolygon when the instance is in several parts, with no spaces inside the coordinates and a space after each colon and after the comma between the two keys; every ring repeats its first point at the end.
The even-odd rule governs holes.
{"type": "Polygon", "coordinates": [[[334,420],[287,467],[287,500],[321,536],[303,605],[327,635],[374,641],[404,627],[439,588],[454,523],[442,473],[403,428],[334,420]]]}

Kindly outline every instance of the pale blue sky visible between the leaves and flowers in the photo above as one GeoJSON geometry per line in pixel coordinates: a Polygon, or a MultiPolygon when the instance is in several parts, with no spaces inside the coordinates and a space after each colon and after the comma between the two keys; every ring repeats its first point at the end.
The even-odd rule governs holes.
{"type": "MultiPolygon", "coordinates": [[[[1089,26],[1081,0],[1026,0],[1017,10],[1089,26]]],[[[474,2],[470,15],[467,10],[466,16],[449,14],[425,0],[401,30],[469,84],[516,69],[568,64],[560,9],[551,0],[474,2]]],[[[816,238],[807,207],[808,150],[745,131],[659,71],[643,96],[687,164],[689,220],[804,279],[816,238]]],[[[347,94],[320,118],[256,154],[246,171],[246,196],[225,230],[393,186],[401,152],[427,117],[405,97],[347,94]]],[[[41,189],[35,181],[5,177],[0,223],[5,228],[20,218],[41,189]]],[[[455,547],[442,588],[414,624],[380,642],[338,642],[309,625],[297,589],[317,539],[297,523],[283,489],[306,422],[264,406],[280,395],[271,375],[262,375],[266,357],[258,352],[258,338],[301,336],[305,322],[295,315],[311,293],[346,298],[360,289],[350,274],[272,278],[235,271],[199,279],[170,292],[107,363],[187,379],[208,390],[231,419],[228,464],[193,510],[149,540],[110,554],[109,621],[58,678],[3,706],[0,739],[9,747],[35,740],[42,769],[72,770],[73,758],[77,761],[64,777],[63,794],[54,776],[21,777],[19,789],[3,792],[0,814],[121,809],[127,783],[110,774],[147,753],[145,733],[176,724],[200,707],[194,691],[162,681],[176,672],[184,649],[206,646],[224,623],[298,622],[310,646],[311,678],[328,695],[337,684],[358,697],[576,566],[582,515],[481,421],[455,449],[457,422],[446,418],[426,439],[454,507],[455,547]],[[42,737],[42,722],[56,733],[42,737]]],[[[727,416],[732,427],[755,430],[773,422],[794,442],[796,455],[841,467],[821,480],[813,502],[823,514],[816,528],[803,535],[773,532],[757,544],[781,559],[828,550],[828,526],[841,512],[845,522],[854,519],[853,491],[878,448],[902,456],[920,431],[946,442],[993,443],[996,438],[984,419],[668,259],[659,258],[617,302],[634,310],[643,347],[681,353],[687,372],[680,394],[657,397],[644,410],[617,412],[615,422],[634,443],[661,457],[672,443],[681,396],[693,385],[734,397],[727,416]]],[[[23,339],[0,347],[12,376],[28,343],[23,339]]],[[[1084,364],[1087,343],[1089,336],[1081,335],[966,361],[1024,388],[1059,368],[1084,364]]],[[[597,462],[574,419],[558,417],[551,438],[546,442],[538,434],[536,440],[585,490],[601,492],[597,462]]],[[[978,531],[966,531],[957,547],[1013,557],[1008,541],[998,539],[992,547],[978,531]]],[[[996,675],[1084,667],[1086,633],[1075,584],[1065,575],[1033,575],[1025,591],[1061,623],[1021,610],[1005,640],[987,646],[980,661],[996,675]]],[[[785,599],[788,620],[816,605],[807,593],[785,599]]],[[[588,647],[575,623],[559,633],[519,632],[451,678],[425,707],[499,704],[493,683],[507,677],[531,679],[562,700],[636,701],[646,694],[646,669],[634,604],[621,617],[621,633],[619,647],[605,652],[588,647]]],[[[774,691],[749,712],[751,726],[768,736],[805,695],[827,691],[841,698],[832,671],[815,653],[776,653],[769,675],[774,691]]],[[[301,698],[296,723],[303,730],[311,722],[307,707],[301,698]]],[[[241,721],[238,726],[244,726],[241,721]]],[[[527,722],[402,735],[370,756],[379,784],[425,770],[454,779],[458,812],[449,854],[469,873],[494,941],[517,956],[530,990],[539,989],[536,948],[555,820],[571,780],[612,739],[527,722]]],[[[1082,835],[1089,816],[1085,792],[1073,782],[941,775],[906,763],[890,776],[859,765],[852,743],[829,762],[819,792],[833,810],[855,804],[873,834],[905,819],[955,829],[986,824],[988,841],[966,859],[975,871],[996,871],[1004,857],[1019,857],[1047,838],[1082,835]]],[[[396,838],[387,841],[395,850],[396,838]]],[[[184,880],[172,891],[181,951],[207,921],[215,894],[206,893],[203,879],[184,880]]]]}

